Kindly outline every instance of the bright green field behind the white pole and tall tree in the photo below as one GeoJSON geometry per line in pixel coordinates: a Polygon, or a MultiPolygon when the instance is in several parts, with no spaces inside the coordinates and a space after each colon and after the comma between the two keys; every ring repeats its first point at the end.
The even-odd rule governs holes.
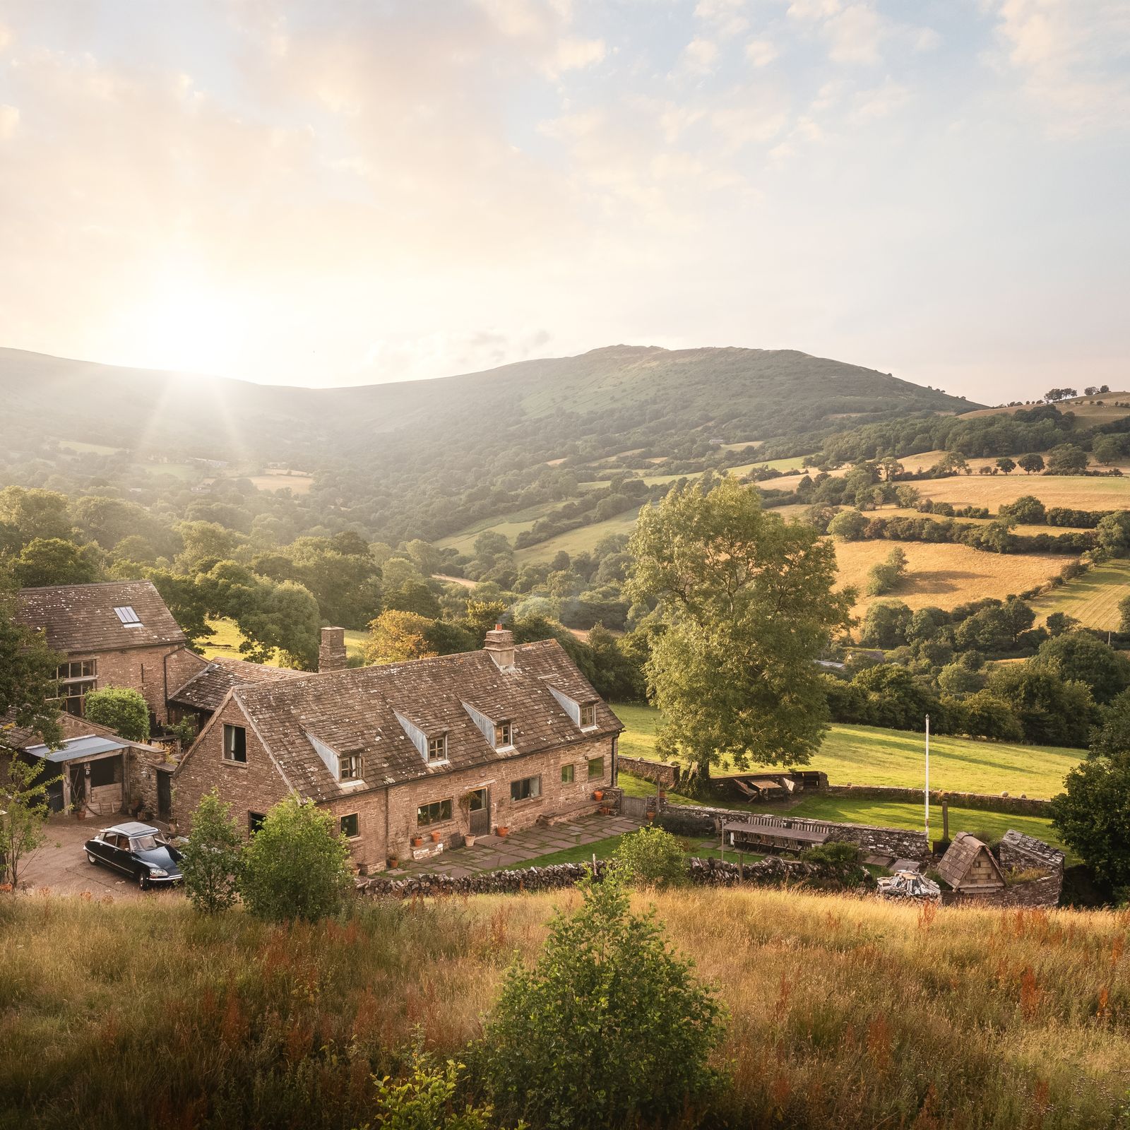
{"type": "MultiPolygon", "coordinates": [[[[658,759],[652,706],[612,707],[627,730],[620,753],[658,759]]],[[[1060,791],[1063,775],[1085,756],[1081,749],[1019,746],[1007,741],[933,737],[930,740],[930,786],[953,792],[1010,792],[1049,798],[1060,791]]],[[[921,733],[867,725],[833,725],[820,751],[806,768],[827,773],[832,784],[878,784],[921,788],[924,757],[921,733]]],[[[724,772],[721,768],[720,772],[724,772]]]]}

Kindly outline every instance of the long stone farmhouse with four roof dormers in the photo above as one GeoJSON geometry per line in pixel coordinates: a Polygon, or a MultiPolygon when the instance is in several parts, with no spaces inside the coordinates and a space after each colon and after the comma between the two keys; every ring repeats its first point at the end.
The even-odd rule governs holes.
{"type": "Polygon", "coordinates": [[[498,627],[481,651],[231,686],[175,771],[174,809],[215,788],[251,832],[296,793],[381,870],[593,811],[621,730],[557,641],[498,627]]]}

